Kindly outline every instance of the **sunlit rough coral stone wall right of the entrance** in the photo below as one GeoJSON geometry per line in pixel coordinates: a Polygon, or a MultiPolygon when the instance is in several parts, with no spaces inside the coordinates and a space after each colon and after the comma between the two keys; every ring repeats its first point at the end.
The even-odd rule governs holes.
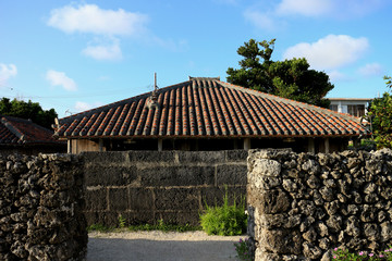
{"type": "Polygon", "coordinates": [[[392,152],[253,150],[248,233],[255,260],[322,260],[392,243],[392,152]]]}

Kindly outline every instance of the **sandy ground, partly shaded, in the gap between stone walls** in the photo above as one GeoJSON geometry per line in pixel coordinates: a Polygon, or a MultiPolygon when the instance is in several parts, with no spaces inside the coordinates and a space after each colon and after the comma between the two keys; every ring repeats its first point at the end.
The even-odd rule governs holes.
{"type": "Polygon", "coordinates": [[[234,243],[245,236],[205,232],[121,232],[88,234],[87,261],[237,261],[234,243]]]}

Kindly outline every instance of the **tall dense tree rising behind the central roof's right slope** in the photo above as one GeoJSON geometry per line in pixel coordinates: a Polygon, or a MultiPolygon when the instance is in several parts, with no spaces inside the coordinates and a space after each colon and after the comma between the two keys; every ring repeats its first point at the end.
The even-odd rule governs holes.
{"type": "Polygon", "coordinates": [[[333,89],[329,76],[323,72],[309,70],[305,58],[272,61],[275,39],[256,41],[250,39],[237,49],[244,59],[241,69],[229,67],[228,82],[267,94],[328,108],[324,99],[333,89]]]}

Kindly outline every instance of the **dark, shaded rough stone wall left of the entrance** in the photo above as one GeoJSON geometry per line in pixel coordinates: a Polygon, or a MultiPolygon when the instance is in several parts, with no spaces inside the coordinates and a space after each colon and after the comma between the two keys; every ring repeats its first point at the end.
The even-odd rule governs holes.
{"type": "Polygon", "coordinates": [[[0,156],[0,260],[83,260],[83,173],[70,154],[0,156]]]}

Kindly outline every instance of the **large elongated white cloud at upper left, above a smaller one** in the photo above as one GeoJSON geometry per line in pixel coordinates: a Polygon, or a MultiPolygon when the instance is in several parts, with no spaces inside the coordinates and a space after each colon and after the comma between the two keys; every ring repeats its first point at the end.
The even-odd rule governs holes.
{"type": "Polygon", "coordinates": [[[66,5],[50,12],[48,25],[65,33],[128,36],[140,33],[148,16],[140,13],[103,10],[96,4],[66,5]]]}

